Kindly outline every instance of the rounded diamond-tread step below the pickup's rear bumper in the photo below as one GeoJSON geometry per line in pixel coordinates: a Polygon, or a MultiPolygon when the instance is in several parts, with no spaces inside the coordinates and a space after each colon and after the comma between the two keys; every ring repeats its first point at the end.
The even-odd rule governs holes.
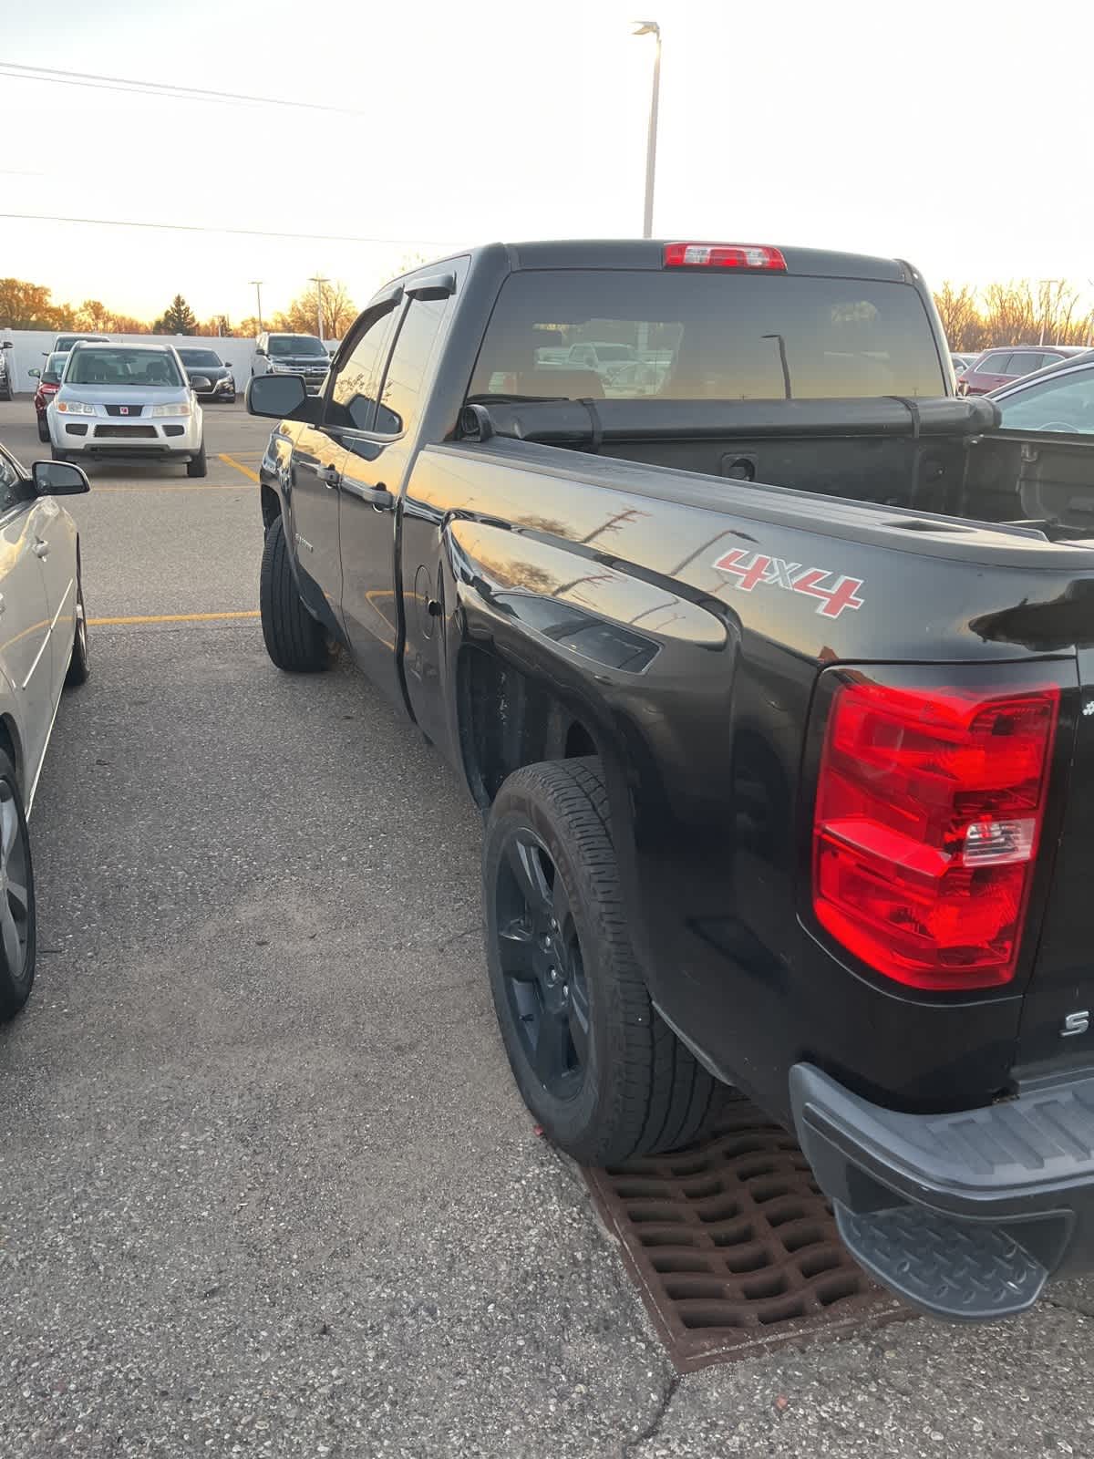
{"type": "Polygon", "coordinates": [[[935,1316],[983,1322],[1024,1312],[1049,1275],[999,1226],[910,1205],[868,1215],[834,1205],[839,1233],[866,1271],[935,1316]]]}

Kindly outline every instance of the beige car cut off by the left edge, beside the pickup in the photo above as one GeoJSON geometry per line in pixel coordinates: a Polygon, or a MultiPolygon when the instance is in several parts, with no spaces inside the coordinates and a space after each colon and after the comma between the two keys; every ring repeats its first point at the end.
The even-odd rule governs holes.
{"type": "Polygon", "coordinates": [[[25,471],[0,446],[0,1020],[35,973],[28,818],[64,684],[88,677],[88,617],[76,524],[57,500],[88,490],[76,465],[25,471]]]}

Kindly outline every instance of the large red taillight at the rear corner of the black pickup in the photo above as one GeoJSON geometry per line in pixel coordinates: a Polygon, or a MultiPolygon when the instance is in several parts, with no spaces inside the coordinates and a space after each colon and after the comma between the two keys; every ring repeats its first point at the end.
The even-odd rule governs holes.
{"type": "Polygon", "coordinates": [[[817,785],[812,906],[915,988],[1014,976],[1059,689],[836,690],[817,785]]]}

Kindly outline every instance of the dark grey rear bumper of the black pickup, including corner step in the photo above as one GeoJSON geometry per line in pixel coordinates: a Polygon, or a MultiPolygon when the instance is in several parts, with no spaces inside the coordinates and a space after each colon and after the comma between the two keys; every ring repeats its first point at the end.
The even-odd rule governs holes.
{"type": "Polygon", "coordinates": [[[901,1115],[796,1064],[791,1102],[843,1240],[918,1307],[1008,1316],[1055,1271],[1094,1266],[1094,1077],[901,1115]]]}

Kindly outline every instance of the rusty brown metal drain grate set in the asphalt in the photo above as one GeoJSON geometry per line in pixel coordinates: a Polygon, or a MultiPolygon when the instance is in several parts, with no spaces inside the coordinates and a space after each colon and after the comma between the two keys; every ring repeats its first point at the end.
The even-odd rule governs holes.
{"type": "Polygon", "coordinates": [[[747,1100],[702,1145],[585,1179],[681,1371],[910,1316],[842,1245],[794,1135],[747,1100]]]}

